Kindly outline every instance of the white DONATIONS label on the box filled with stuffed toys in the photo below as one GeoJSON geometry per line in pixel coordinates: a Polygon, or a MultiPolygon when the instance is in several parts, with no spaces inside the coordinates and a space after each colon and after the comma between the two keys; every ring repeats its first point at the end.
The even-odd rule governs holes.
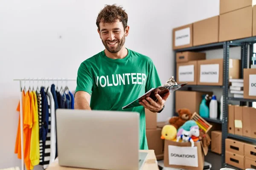
{"type": "Polygon", "coordinates": [[[170,165],[198,167],[198,148],[168,145],[170,165]]]}

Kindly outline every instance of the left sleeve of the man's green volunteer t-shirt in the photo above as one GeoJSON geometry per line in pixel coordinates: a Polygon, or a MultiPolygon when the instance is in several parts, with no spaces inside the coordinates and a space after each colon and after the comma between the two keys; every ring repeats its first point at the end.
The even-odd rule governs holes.
{"type": "Polygon", "coordinates": [[[93,89],[93,77],[86,64],[83,62],[79,66],[76,79],[76,91],[86,91],[91,94],[93,89]]]}

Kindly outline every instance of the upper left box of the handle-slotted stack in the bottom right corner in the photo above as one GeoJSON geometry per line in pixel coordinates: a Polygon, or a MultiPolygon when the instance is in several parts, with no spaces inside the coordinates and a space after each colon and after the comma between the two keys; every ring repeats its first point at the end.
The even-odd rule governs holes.
{"type": "Polygon", "coordinates": [[[244,155],[244,142],[234,139],[225,139],[225,150],[238,155],[244,155]]]}

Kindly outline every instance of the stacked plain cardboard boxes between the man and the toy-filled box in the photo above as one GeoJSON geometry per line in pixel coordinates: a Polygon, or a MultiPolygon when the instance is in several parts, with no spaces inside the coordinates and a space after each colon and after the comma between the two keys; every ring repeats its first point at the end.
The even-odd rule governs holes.
{"type": "Polygon", "coordinates": [[[148,149],[154,150],[157,160],[163,160],[164,140],[161,139],[162,128],[157,127],[157,113],[145,109],[145,116],[148,149]]]}

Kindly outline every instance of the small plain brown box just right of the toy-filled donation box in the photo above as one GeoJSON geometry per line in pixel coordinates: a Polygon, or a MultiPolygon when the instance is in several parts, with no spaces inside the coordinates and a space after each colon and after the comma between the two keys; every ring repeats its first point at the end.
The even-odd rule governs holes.
{"type": "Polygon", "coordinates": [[[221,141],[222,141],[222,133],[221,131],[212,131],[211,138],[211,151],[221,154],[221,141]]]}

